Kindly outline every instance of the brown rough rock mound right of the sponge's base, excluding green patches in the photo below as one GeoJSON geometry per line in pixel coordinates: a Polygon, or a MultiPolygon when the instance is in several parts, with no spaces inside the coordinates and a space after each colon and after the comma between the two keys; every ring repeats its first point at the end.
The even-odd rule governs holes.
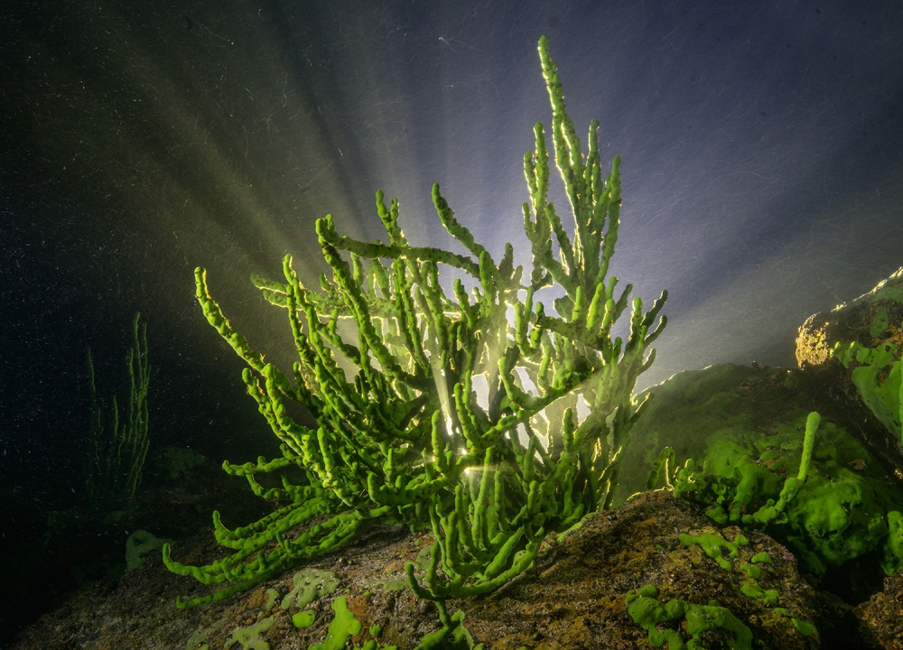
{"type": "MultiPolygon", "coordinates": [[[[749,627],[764,647],[816,648],[821,636],[803,636],[791,617],[775,610],[785,608],[792,617],[826,629],[836,609],[826,607],[815,590],[800,578],[796,560],[786,548],[764,534],[746,534],[737,557],[727,548],[712,552],[703,546],[682,543],[681,534],[717,535],[738,542],[740,529],[716,531],[711,521],[694,507],[669,497],[666,491],[643,493],[620,508],[601,513],[581,530],[536,562],[533,571],[482,599],[462,602],[465,625],[475,640],[488,648],[646,648],[647,631],[628,614],[625,597],[646,585],[657,588],[657,600],[671,599],[718,606],[730,610],[749,627]],[[767,553],[770,563],[752,563],[767,553]],[[722,569],[716,558],[721,558],[722,569]],[[761,568],[755,580],[741,567],[761,568]],[[777,605],[762,597],[750,597],[752,585],[777,591],[777,605]]],[[[709,538],[712,539],[712,538],[709,538]]],[[[684,537],[686,540],[686,537],[684,537]]],[[[755,573],[755,571],[753,571],[755,573]]],[[[664,623],[689,639],[686,622],[664,623]]],[[[712,644],[733,641],[726,630],[712,630],[703,640],[712,644]]],[[[712,645],[717,646],[717,645],[712,645]]],[[[741,647],[741,645],[737,645],[741,647]]]]}

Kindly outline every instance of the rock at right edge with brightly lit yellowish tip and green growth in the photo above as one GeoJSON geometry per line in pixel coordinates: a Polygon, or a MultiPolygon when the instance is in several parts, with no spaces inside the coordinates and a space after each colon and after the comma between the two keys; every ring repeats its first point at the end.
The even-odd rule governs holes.
{"type": "Polygon", "coordinates": [[[821,368],[824,381],[855,396],[865,441],[903,475],[900,437],[900,349],[903,267],[856,300],[813,314],[799,328],[796,362],[821,368]]]}

